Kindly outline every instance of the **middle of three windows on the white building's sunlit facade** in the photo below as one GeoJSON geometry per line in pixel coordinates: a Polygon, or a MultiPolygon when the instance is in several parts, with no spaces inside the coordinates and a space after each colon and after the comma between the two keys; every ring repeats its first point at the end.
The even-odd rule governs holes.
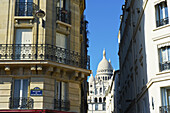
{"type": "Polygon", "coordinates": [[[170,46],[159,49],[160,71],[170,69],[170,46]]]}

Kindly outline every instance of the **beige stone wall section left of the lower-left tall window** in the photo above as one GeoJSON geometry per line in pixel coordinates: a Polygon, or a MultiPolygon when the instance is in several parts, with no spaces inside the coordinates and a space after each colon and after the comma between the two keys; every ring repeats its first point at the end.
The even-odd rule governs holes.
{"type": "Polygon", "coordinates": [[[9,109],[12,78],[0,78],[0,109],[9,109]]]}

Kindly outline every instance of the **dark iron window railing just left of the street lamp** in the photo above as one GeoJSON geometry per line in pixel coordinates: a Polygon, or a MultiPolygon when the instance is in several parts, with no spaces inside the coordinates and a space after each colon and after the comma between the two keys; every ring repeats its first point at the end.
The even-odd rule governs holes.
{"type": "Polygon", "coordinates": [[[33,2],[16,2],[15,16],[33,16],[38,6],[33,2]]]}

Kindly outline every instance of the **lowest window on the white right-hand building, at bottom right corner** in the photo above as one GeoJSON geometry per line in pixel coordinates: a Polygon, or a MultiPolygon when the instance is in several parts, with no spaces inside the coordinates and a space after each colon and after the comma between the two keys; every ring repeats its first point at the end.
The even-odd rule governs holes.
{"type": "Polygon", "coordinates": [[[162,96],[162,106],[160,107],[160,111],[164,111],[164,113],[169,113],[170,87],[161,88],[161,96],[162,96]]]}

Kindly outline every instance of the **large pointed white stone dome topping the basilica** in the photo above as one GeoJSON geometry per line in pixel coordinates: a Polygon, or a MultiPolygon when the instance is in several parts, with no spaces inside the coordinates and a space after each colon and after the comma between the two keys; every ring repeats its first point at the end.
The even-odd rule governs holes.
{"type": "Polygon", "coordinates": [[[113,74],[113,67],[111,65],[110,60],[106,59],[106,52],[103,51],[103,59],[100,61],[97,68],[97,75],[101,74],[113,74]]]}

